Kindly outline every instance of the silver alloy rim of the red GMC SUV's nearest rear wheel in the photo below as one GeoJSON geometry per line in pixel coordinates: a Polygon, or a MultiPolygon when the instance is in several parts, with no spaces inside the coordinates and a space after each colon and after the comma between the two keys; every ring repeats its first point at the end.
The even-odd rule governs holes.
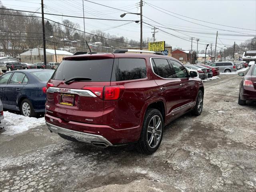
{"type": "Polygon", "coordinates": [[[150,148],[155,148],[162,136],[162,121],[158,115],[153,116],[148,124],[147,140],[150,148]]]}

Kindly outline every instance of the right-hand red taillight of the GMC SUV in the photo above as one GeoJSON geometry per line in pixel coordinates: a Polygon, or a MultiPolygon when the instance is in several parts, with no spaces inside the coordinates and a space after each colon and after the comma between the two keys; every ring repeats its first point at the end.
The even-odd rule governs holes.
{"type": "Polygon", "coordinates": [[[98,98],[103,100],[118,100],[124,91],[124,86],[85,86],[82,89],[90,90],[96,96],[98,96],[98,98]]]}

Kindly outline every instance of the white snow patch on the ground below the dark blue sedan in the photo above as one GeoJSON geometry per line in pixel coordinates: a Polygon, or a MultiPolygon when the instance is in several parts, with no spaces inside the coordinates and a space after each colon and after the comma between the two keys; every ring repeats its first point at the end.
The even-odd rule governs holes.
{"type": "Polygon", "coordinates": [[[1,127],[4,127],[6,131],[4,131],[2,134],[14,135],[44,124],[44,117],[37,119],[34,117],[25,117],[23,115],[5,111],[4,120],[2,120],[1,127]]]}

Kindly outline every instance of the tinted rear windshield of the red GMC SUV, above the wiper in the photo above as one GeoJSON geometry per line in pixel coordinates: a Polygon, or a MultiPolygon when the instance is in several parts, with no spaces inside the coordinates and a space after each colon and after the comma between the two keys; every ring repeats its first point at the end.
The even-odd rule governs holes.
{"type": "Polygon", "coordinates": [[[86,77],[94,82],[110,81],[114,59],[63,60],[52,79],[68,80],[73,77],[86,77]]]}

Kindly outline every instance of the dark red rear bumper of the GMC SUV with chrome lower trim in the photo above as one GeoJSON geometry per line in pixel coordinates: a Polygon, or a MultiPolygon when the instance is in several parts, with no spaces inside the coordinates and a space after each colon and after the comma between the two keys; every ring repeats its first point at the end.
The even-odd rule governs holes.
{"type": "MultiPolygon", "coordinates": [[[[70,132],[68,132],[68,135],[65,133],[61,133],[63,135],[67,135],[73,138],[76,138],[78,133],[82,135],[89,134],[90,136],[93,136],[89,139],[88,137],[86,137],[86,139],[82,141],[87,143],[101,142],[101,140],[107,140],[109,146],[120,144],[122,145],[137,142],[140,138],[141,133],[140,126],[125,129],[114,129],[108,125],[88,124],[74,121],[67,122],[65,120],[62,120],[61,118],[49,115],[48,112],[46,112],[44,117],[46,120],[46,124],[51,124],[53,126],[63,128],[64,130],[70,130],[70,132]],[[75,133],[75,135],[72,135],[73,133],[75,133]],[[93,140],[96,138],[98,139],[93,140]]],[[[55,132],[54,130],[52,131],[55,132]]],[[[79,137],[77,140],[81,141],[82,139],[79,137]]]]}

